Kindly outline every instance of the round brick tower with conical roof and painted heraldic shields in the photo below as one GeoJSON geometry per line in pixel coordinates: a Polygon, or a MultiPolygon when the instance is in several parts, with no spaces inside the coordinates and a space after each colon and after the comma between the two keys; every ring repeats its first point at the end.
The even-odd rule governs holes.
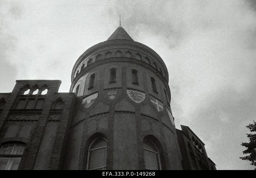
{"type": "Polygon", "coordinates": [[[64,169],[182,169],[161,57],[119,26],[76,61],[64,169]]]}

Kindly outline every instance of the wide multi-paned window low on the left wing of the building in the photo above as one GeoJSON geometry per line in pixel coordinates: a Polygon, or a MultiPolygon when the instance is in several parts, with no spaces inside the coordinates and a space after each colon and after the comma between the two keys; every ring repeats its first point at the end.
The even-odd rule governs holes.
{"type": "Polygon", "coordinates": [[[25,146],[21,144],[2,145],[0,149],[0,170],[17,170],[25,146]]]}

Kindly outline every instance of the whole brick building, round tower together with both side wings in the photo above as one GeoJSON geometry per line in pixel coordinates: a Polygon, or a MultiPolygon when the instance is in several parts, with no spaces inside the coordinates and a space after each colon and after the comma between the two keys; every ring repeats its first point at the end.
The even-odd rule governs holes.
{"type": "Polygon", "coordinates": [[[0,170],[201,169],[183,156],[189,139],[175,128],[168,76],[119,26],[77,59],[69,93],[58,93],[60,80],[17,80],[0,93],[0,170]]]}

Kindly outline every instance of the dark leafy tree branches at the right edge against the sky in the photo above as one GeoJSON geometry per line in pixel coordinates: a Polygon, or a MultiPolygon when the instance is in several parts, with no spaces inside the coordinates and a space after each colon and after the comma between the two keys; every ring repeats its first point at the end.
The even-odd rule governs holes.
{"type": "MultiPolygon", "coordinates": [[[[251,132],[256,132],[256,121],[253,121],[253,124],[249,124],[246,126],[250,129],[251,132]]],[[[256,134],[246,134],[249,138],[249,143],[243,143],[242,146],[245,146],[247,149],[243,151],[243,154],[250,154],[249,156],[240,157],[242,160],[252,161],[250,163],[253,166],[256,166],[256,134]]],[[[254,169],[256,170],[256,168],[254,169]]]]}

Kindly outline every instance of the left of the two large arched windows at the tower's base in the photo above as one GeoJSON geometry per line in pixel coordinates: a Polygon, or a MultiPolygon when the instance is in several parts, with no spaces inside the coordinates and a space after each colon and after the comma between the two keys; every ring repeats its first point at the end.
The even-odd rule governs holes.
{"type": "Polygon", "coordinates": [[[87,170],[106,170],[107,146],[105,138],[97,138],[89,146],[87,170]]]}

